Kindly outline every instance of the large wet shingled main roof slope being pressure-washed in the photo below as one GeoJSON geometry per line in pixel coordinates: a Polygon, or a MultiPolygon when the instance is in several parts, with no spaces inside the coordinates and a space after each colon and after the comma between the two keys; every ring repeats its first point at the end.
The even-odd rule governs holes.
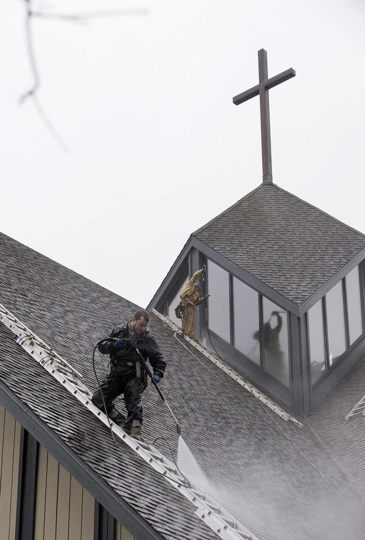
{"type": "MultiPolygon", "coordinates": [[[[137,306],[4,235],[0,261],[0,302],[94,389],[94,343],[130,318],[137,306]]],[[[341,448],[321,431],[331,421],[327,411],[316,409],[318,416],[302,420],[304,428],[299,430],[261,406],[194,349],[197,361],[154,315],[149,328],[168,363],[161,389],[184,440],[214,485],[216,497],[240,522],[261,540],[363,539],[363,484],[356,468],[348,465],[362,456],[346,458],[344,453],[341,458],[341,448]]],[[[97,356],[101,377],[106,360],[97,356]]],[[[128,447],[116,450],[108,429],[32,361],[3,325],[0,379],[164,538],[214,538],[178,491],[128,447]]],[[[176,428],[151,386],[143,404],[144,435],[151,440],[168,437],[176,455],[176,428]]],[[[353,423],[350,429],[354,431],[349,444],[354,445],[361,424],[353,423]]],[[[162,443],[160,448],[168,456],[162,443]]]]}

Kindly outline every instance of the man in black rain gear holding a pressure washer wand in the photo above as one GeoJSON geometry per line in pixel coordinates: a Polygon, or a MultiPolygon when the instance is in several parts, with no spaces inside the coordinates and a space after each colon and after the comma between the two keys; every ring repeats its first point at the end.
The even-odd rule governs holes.
{"type": "Polygon", "coordinates": [[[100,343],[100,352],[110,355],[111,371],[107,380],[101,383],[101,389],[98,388],[92,397],[94,405],[104,411],[102,401],[104,395],[109,418],[137,438],[141,437],[143,412],[141,399],[147,387],[147,373],[135,349],[128,342],[128,337],[133,335],[144,360],[147,361],[148,358],[153,367],[153,378],[157,383],[163,377],[166,368],[160,348],[147,328],[148,322],[149,313],[145,309],[139,309],[133,315],[132,321],[124,326],[117,326],[108,335],[108,338],[116,338],[115,341],[100,343]],[[113,400],[120,394],[124,394],[127,418],[113,404],[113,400]]]}

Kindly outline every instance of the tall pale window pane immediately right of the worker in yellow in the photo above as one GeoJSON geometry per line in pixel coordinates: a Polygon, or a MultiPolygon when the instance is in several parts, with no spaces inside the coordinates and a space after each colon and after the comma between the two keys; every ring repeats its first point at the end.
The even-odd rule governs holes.
{"type": "Polygon", "coordinates": [[[208,259],[209,328],[230,342],[229,274],[208,259]]]}

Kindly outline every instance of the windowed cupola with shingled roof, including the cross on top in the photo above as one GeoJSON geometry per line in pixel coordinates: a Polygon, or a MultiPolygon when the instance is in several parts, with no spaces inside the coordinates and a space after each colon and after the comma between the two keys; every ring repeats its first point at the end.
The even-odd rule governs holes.
{"type": "Polygon", "coordinates": [[[365,352],[365,235],[272,183],[268,89],[295,72],[268,79],[258,54],[259,85],[233,102],[260,96],[263,183],[191,234],[148,308],[176,322],[205,264],[199,341],[305,415],[365,352]]]}

